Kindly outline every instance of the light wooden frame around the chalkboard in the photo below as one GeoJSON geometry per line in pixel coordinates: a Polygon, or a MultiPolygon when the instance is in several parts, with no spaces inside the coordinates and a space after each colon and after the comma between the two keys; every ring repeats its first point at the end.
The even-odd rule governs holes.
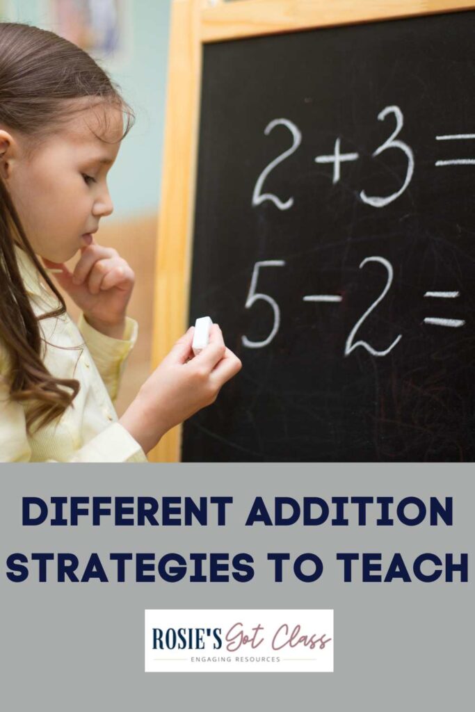
{"type": "MultiPolygon", "coordinates": [[[[205,43],[474,9],[467,0],[172,0],[152,367],[188,327],[192,229],[205,43]]],[[[181,427],[154,451],[179,461],[181,427]]]]}

